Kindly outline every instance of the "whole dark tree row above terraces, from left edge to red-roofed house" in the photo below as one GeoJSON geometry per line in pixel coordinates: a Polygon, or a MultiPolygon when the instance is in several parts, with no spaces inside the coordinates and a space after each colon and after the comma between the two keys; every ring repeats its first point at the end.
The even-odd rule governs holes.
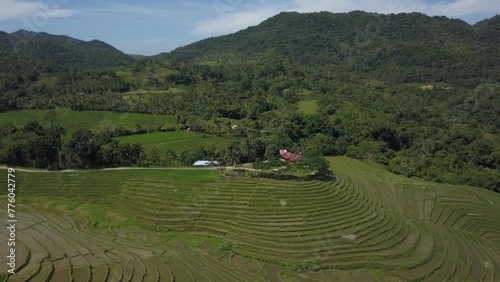
{"type": "MultiPolygon", "coordinates": [[[[278,162],[278,148],[281,147],[267,144],[270,141],[266,138],[254,139],[246,132],[235,133],[229,144],[198,146],[181,153],[158,148],[145,152],[140,143],[121,144],[113,139],[119,135],[118,130],[93,132],[81,129],[64,140],[65,129],[58,126],[55,112],[48,112],[45,120],[46,126],[30,121],[23,127],[13,124],[0,127],[0,163],[49,170],[191,166],[201,159],[217,160],[230,166],[263,160],[283,165],[278,162]]],[[[224,134],[230,138],[229,132],[224,134]]],[[[305,155],[303,161],[293,166],[295,169],[314,173],[316,178],[322,180],[333,178],[320,151],[307,150],[305,155]]]]}

